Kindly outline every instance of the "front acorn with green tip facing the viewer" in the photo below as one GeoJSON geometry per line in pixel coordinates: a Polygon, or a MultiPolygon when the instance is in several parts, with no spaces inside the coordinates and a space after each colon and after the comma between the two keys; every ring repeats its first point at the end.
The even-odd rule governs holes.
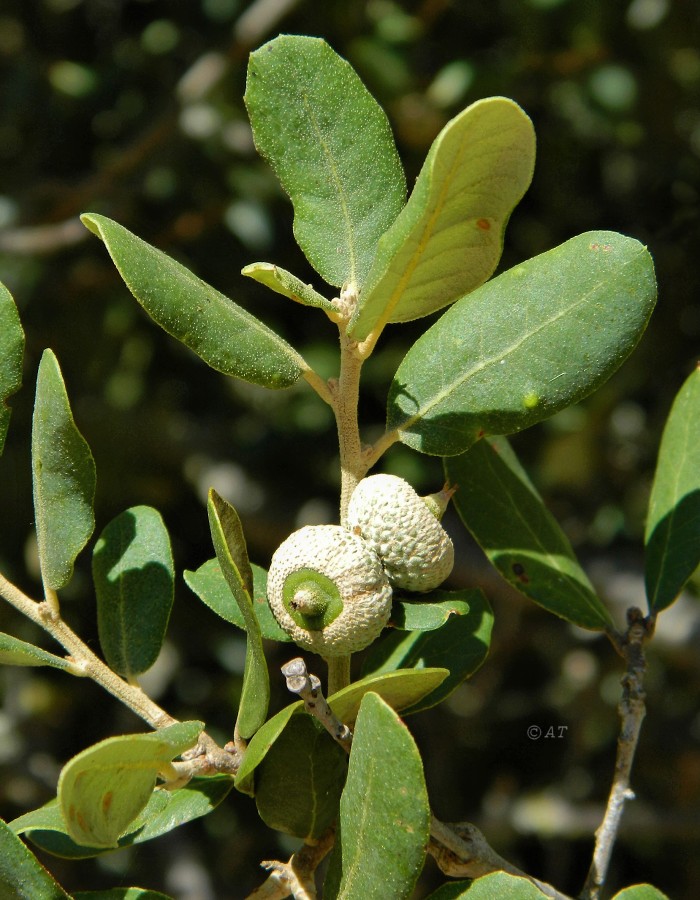
{"type": "Polygon", "coordinates": [[[369,544],[340,525],[306,525],[277,548],[267,599],[280,626],[325,658],[362,650],[391,613],[391,585],[369,544]]]}

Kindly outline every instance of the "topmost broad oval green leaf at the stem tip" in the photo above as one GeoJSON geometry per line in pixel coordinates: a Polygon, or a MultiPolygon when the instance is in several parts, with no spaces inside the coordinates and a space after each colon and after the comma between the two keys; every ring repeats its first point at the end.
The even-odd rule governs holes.
{"type": "Polygon", "coordinates": [[[244,99],[306,258],[329,284],[359,287],[406,195],[384,111],[325,41],[296,35],[251,54],[244,99]]]}

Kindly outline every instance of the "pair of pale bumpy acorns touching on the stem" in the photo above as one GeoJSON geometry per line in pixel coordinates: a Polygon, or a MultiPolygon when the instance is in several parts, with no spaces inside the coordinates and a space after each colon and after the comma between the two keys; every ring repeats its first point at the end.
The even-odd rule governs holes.
{"type": "Polygon", "coordinates": [[[389,621],[393,588],[430,591],[452,571],[440,518],[452,491],[420,497],[395,475],[370,475],[350,498],[347,527],[307,525],[275,551],[270,608],[281,627],[326,658],[367,647],[389,621]]]}

